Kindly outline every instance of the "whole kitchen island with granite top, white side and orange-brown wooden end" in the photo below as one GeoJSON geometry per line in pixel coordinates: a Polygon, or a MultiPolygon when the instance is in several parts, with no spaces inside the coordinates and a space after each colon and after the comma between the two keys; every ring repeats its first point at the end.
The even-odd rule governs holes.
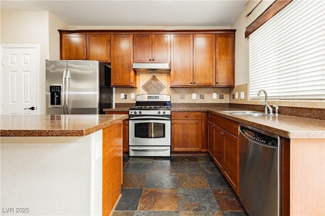
{"type": "Polygon", "coordinates": [[[127,115],[2,115],[2,215],[109,215],[127,115]]]}

